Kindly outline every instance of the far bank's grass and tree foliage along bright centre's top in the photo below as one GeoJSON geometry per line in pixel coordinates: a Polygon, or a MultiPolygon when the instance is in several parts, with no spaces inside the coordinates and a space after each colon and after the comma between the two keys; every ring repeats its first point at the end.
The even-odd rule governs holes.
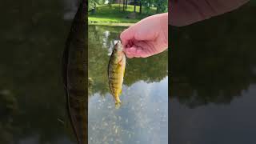
{"type": "Polygon", "coordinates": [[[167,12],[167,0],[140,0],[133,2],[133,5],[123,5],[122,3],[114,4],[114,1],[109,1],[109,4],[103,4],[102,1],[89,1],[89,22],[138,22],[142,18],[146,18],[152,14],[167,12]],[[139,3],[141,2],[141,5],[139,3]],[[97,3],[95,8],[94,3],[97,3]],[[123,7],[121,7],[123,6],[123,7]],[[126,8],[125,8],[126,7],[126,8]],[[128,14],[135,12],[136,18],[126,18],[128,14]]]}

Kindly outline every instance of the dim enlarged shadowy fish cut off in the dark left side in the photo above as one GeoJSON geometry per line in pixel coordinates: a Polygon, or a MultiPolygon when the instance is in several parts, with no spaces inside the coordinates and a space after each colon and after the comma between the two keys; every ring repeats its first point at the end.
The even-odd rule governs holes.
{"type": "Polygon", "coordinates": [[[62,57],[66,111],[78,144],[88,143],[87,2],[82,0],[71,24],[62,57]]]}

